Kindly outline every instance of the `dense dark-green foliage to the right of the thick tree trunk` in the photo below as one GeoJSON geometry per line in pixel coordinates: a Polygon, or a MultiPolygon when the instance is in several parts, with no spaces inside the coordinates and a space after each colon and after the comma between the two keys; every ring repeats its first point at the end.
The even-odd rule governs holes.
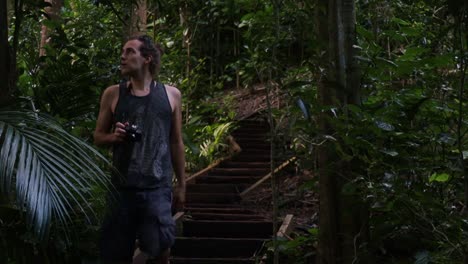
{"type": "MultiPolygon", "coordinates": [[[[356,259],[370,251],[376,263],[462,263],[468,253],[466,5],[359,1],[357,14],[362,103],[334,109],[337,132],[324,137],[314,116],[329,109],[316,104],[316,88],[292,89],[303,99],[299,106],[310,106],[291,104],[285,113],[296,151],[310,157],[331,142],[352,164],[352,175],[343,177],[355,180],[342,192],[369,207],[363,228],[369,243],[356,249],[356,259]],[[309,111],[312,120],[301,120],[309,111]]],[[[317,83],[320,73],[305,77],[317,83]]],[[[313,161],[303,159],[302,166],[313,170],[313,161]]],[[[310,249],[313,230],[284,244],[294,263],[307,261],[296,250],[310,249]]]]}

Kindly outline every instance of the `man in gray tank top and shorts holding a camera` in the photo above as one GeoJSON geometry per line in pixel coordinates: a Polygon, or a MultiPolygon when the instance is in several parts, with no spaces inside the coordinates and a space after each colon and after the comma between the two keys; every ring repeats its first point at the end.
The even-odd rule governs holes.
{"type": "Polygon", "coordinates": [[[184,144],[180,91],[153,80],[161,51],[148,36],[130,38],[120,70],[130,81],[108,87],[94,132],[97,145],[113,146],[116,202],[103,224],[101,255],[106,263],[131,263],[135,239],[146,257],[169,263],[175,239],[171,214],[185,201],[184,144]]]}

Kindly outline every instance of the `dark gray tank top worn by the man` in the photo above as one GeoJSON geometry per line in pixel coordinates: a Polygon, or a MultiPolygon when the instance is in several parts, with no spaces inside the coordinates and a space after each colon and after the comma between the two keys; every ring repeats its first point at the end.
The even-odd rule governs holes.
{"type": "Polygon", "coordinates": [[[126,83],[119,86],[115,122],[137,125],[141,140],[114,144],[113,183],[118,188],[155,189],[172,184],[170,134],[172,109],[166,87],[155,82],[146,96],[134,96],[126,83]]]}

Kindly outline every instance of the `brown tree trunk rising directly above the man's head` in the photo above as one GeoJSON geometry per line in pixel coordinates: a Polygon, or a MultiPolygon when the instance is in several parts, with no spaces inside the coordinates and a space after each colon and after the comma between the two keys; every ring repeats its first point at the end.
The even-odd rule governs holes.
{"type": "Polygon", "coordinates": [[[128,3],[129,23],[124,25],[124,40],[128,37],[146,34],[147,24],[147,2],[146,0],[137,0],[136,3],[128,3]]]}

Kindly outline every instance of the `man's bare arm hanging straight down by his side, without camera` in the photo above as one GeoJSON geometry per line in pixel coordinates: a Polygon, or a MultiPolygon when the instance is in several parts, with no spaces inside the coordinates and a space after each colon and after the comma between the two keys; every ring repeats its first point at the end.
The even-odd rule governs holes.
{"type": "Polygon", "coordinates": [[[182,139],[182,95],[170,87],[172,111],[171,155],[177,185],[174,191],[175,208],[182,210],[185,204],[185,147],[182,139]]]}

